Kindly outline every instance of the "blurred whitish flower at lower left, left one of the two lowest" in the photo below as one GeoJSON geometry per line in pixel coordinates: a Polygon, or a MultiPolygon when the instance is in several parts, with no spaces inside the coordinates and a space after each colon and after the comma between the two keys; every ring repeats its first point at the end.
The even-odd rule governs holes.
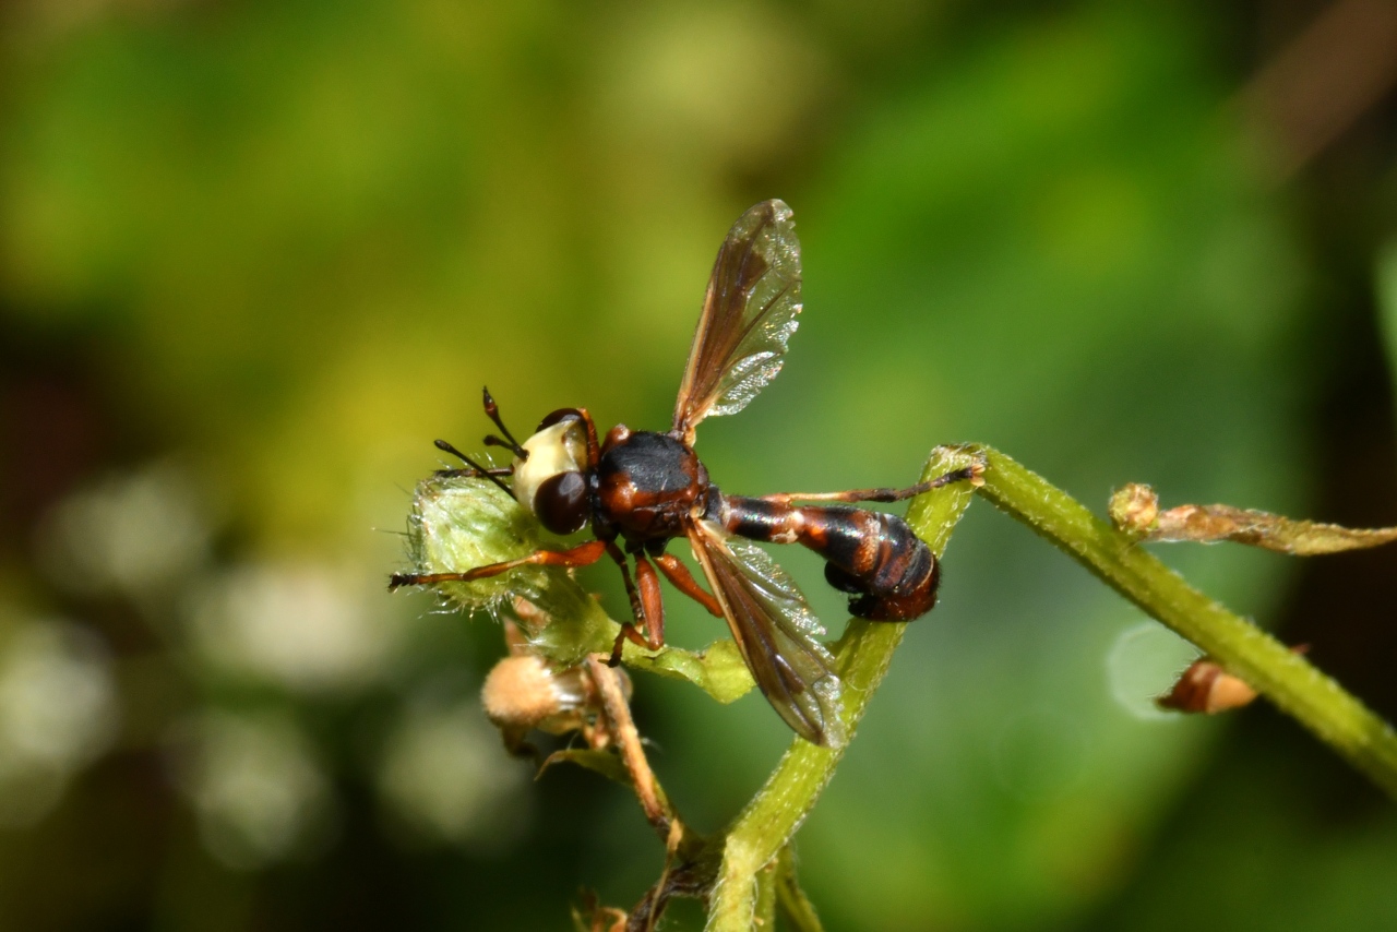
{"type": "Polygon", "coordinates": [[[288,715],[208,713],[184,739],[180,784],[215,858],[253,869],[305,854],[324,838],[330,785],[288,715]]]}

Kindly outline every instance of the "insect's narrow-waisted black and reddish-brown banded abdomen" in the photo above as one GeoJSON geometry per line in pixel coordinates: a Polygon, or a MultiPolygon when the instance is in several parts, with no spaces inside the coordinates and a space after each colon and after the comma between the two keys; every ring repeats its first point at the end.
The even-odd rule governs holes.
{"type": "Polygon", "coordinates": [[[859,618],[905,622],[932,611],[940,569],[907,521],[848,504],[795,506],[725,496],[725,527],[753,541],[802,544],[859,618]]]}

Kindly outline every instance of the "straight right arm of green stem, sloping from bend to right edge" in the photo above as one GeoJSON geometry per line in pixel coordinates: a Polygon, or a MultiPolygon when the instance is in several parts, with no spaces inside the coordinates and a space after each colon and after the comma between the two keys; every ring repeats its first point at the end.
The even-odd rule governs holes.
{"type": "Polygon", "coordinates": [[[1197,644],[1397,796],[1397,734],[1387,722],[1302,655],[1190,587],[1066,492],[997,450],[979,450],[986,460],[981,495],[1197,644]]]}

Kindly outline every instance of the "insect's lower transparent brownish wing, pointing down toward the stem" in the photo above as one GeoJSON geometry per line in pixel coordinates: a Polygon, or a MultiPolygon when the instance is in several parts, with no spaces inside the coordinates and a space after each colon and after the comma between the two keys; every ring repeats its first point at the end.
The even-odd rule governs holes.
{"type": "Polygon", "coordinates": [[[753,679],[792,729],[828,748],[844,743],[834,657],[814,640],[823,629],[777,563],[712,521],[689,532],[753,679]]]}

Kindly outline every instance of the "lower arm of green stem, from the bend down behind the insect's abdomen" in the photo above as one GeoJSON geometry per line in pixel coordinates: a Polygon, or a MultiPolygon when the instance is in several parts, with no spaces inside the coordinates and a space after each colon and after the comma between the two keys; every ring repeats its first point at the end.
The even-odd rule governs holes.
{"type": "MultiPolygon", "coordinates": [[[[972,450],[937,447],[922,478],[933,479],[975,461],[972,450]]],[[[918,497],[908,509],[912,528],[937,556],[971,496],[971,485],[957,482],[918,497]]],[[[887,673],[905,627],[905,623],[854,619],[835,647],[849,741],[887,673]]],[[[757,907],[757,875],[789,843],[842,756],[842,748],[820,748],[802,739],[791,743],[766,785],[721,838],[722,864],[708,904],[708,932],[750,932],[757,907]]]]}

